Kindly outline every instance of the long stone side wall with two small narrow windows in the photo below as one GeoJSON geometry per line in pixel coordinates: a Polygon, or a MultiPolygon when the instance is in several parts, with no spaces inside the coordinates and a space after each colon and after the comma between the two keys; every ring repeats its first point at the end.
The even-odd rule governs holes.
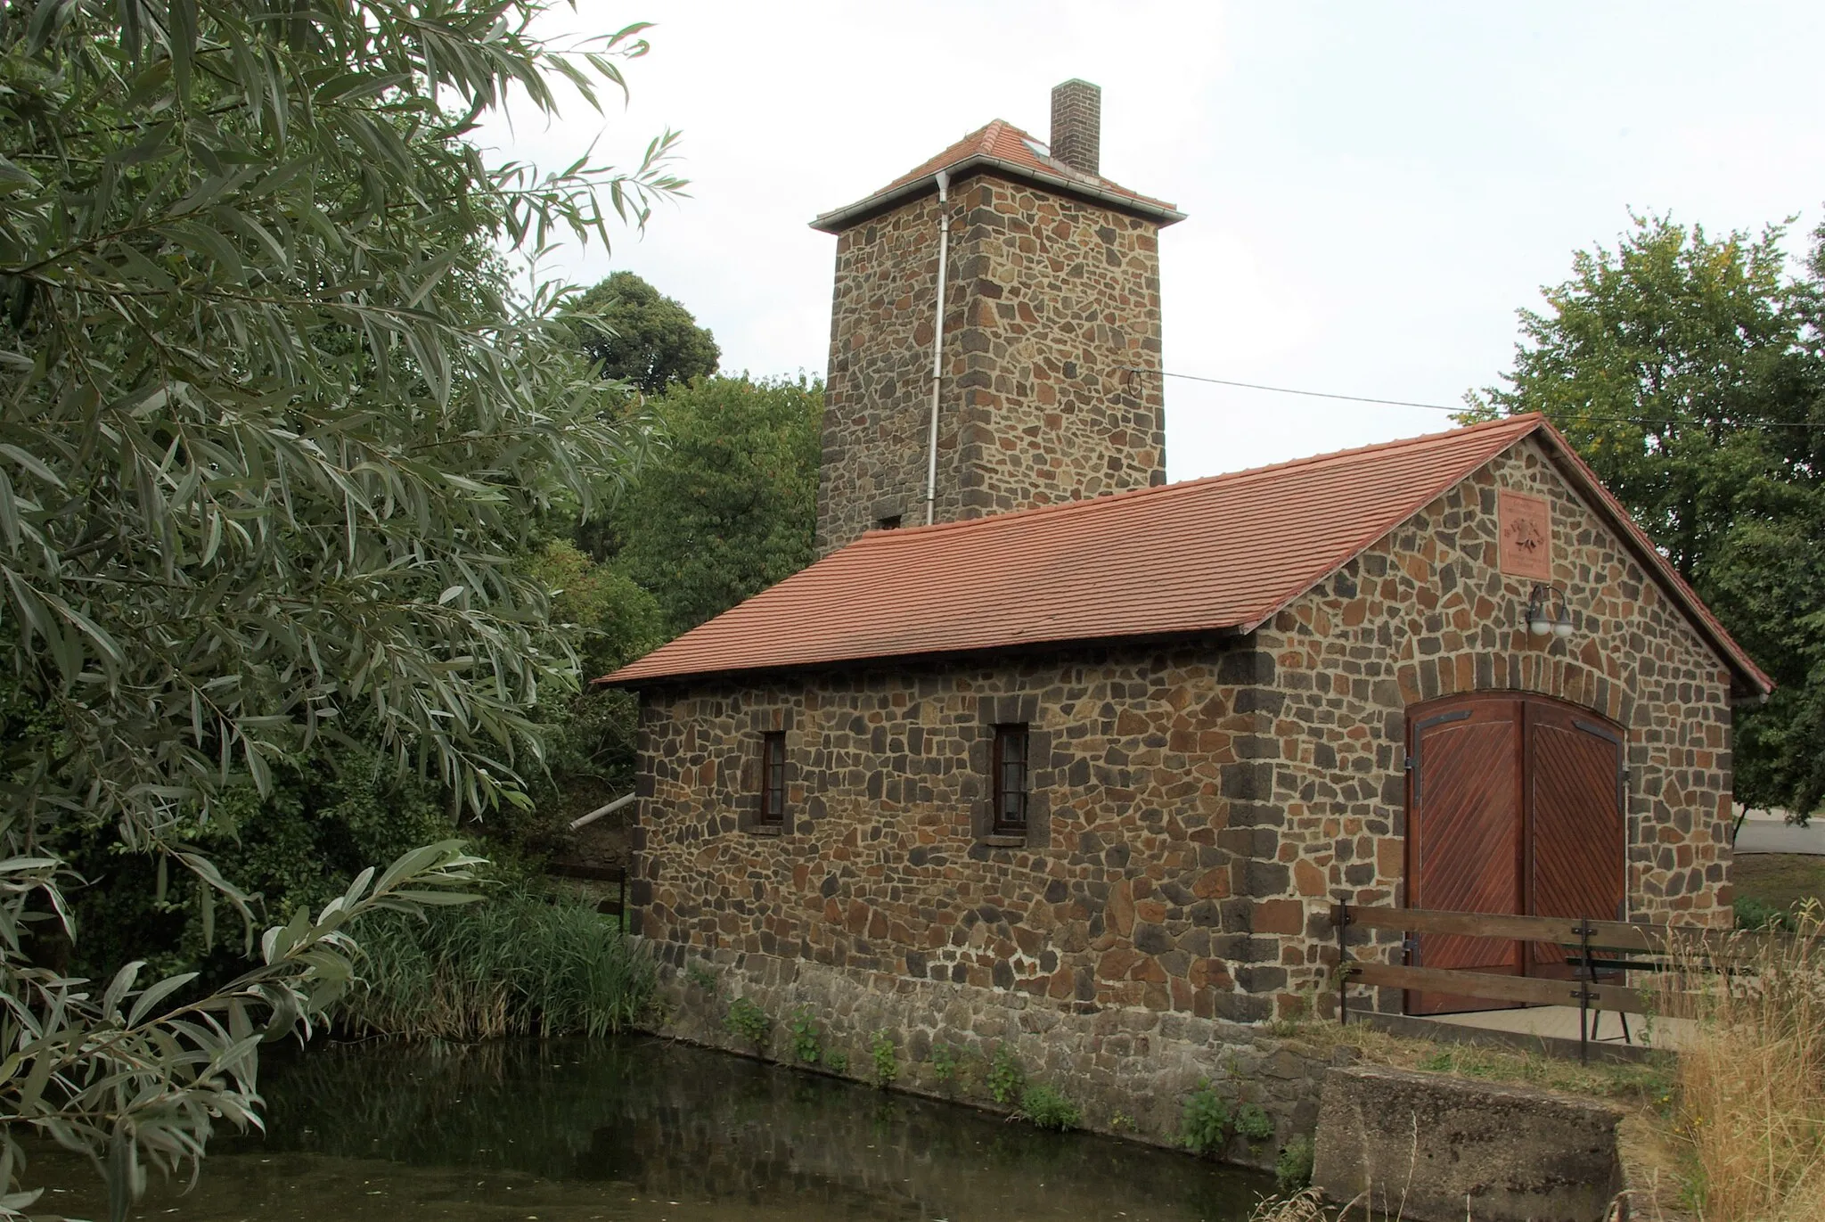
{"type": "MultiPolygon", "coordinates": [[[[1250,692],[1217,643],[655,689],[641,712],[639,930],[694,952],[1024,994],[1055,1010],[1265,1017],[1263,833],[1232,829],[1250,692]],[[1029,827],[989,833],[993,727],[1029,734],[1029,827]],[[787,826],[756,827],[787,743],[787,826]]],[[[1267,833],[1272,835],[1272,833],[1267,833]]],[[[1272,848],[1265,849],[1272,859],[1272,848]]]]}

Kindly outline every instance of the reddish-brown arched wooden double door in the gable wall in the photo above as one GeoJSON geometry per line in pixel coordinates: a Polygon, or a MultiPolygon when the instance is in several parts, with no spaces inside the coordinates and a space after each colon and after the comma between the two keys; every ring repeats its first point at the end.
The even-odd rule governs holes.
{"type": "MultiPolygon", "coordinates": [[[[1407,906],[1621,921],[1628,911],[1622,731],[1546,696],[1475,694],[1407,711],[1407,906]]],[[[1570,975],[1540,943],[1422,935],[1427,968],[1570,975]]],[[[1409,1014],[1498,1008],[1407,994],[1409,1014]]]]}

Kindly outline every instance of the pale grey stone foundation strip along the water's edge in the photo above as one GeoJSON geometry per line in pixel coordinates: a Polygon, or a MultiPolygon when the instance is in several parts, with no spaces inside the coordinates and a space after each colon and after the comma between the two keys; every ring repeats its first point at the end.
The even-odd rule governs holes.
{"type": "Polygon", "coordinates": [[[1257,1167],[1272,1165],[1290,1136],[1312,1132],[1325,1070],[1352,1056],[1321,1039],[1318,1025],[1274,1034],[1146,1006],[1071,1014],[1024,994],[730,950],[672,961],[662,970],[659,1034],[798,1063],[788,1023],[805,1016],[816,1025],[818,1069],[872,1081],[872,1047],[885,1038],[894,1089],[993,1111],[1011,1107],[993,1100],[987,1070],[996,1054],[1011,1056],[1029,1085],[1071,1100],[1086,1129],[1177,1149],[1184,1100],[1208,1085],[1232,1111],[1257,1103],[1274,1118],[1274,1136],[1234,1134],[1215,1151],[1257,1167]],[[735,997],[772,1019],[761,1047],[725,1027],[735,997]],[[951,1058],[947,1070],[933,1056],[938,1048],[951,1058]]]}

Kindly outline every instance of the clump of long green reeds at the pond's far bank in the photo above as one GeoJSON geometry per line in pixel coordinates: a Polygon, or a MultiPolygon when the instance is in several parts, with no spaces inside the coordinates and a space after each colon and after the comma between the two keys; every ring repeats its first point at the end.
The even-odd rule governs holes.
{"type": "Polygon", "coordinates": [[[613,917],[562,893],[378,913],[358,941],[360,981],[338,1021],[367,1036],[606,1036],[633,1023],[657,981],[613,917]]]}

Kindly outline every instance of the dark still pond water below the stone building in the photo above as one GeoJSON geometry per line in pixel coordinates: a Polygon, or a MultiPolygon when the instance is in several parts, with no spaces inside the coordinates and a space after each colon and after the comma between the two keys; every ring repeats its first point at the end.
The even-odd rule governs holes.
{"type": "MultiPolygon", "coordinates": [[[[312,1048],[263,1067],[266,1138],[217,1138],[173,1222],[1237,1222],[1272,1182],[1184,1154],[652,1038],[312,1048]]],[[[40,1154],[38,1209],[104,1217],[40,1154]]]]}

